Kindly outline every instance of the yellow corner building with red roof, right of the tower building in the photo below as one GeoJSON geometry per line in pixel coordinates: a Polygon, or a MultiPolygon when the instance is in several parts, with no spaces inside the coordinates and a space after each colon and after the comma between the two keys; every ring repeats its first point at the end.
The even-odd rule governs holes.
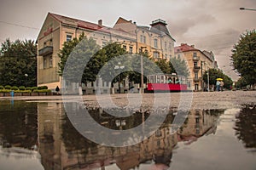
{"type": "Polygon", "coordinates": [[[201,51],[194,45],[182,43],[174,48],[175,57],[185,59],[189,66],[189,88],[194,91],[206,90],[207,83],[203,82],[202,75],[211,68],[217,68],[217,62],[212,52],[201,51]]]}

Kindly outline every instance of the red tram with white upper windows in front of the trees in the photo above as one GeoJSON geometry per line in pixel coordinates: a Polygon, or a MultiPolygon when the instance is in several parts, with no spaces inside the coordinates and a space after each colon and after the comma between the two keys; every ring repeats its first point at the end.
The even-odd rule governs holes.
{"type": "Polygon", "coordinates": [[[187,91],[187,78],[172,74],[154,74],[147,77],[147,92],[187,91]]]}

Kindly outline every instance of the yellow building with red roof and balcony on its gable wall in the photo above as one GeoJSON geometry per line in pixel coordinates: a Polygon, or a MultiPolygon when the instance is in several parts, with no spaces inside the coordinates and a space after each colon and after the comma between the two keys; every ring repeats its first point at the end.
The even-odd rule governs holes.
{"type": "Polygon", "coordinates": [[[136,37],[131,33],[102,26],[102,20],[93,24],[84,20],[76,20],[59,14],[49,13],[38,35],[38,86],[48,86],[54,90],[61,88],[61,77],[58,75],[58,53],[64,42],[84,32],[92,37],[100,46],[107,42],[120,42],[130,53],[137,52],[136,37]]]}

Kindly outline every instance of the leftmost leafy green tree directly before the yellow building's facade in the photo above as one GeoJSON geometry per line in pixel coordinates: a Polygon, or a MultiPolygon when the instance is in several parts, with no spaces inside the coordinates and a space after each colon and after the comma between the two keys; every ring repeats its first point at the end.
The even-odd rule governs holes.
{"type": "Polygon", "coordinates": [[[96,41],[92,38],[88,39],[84,36],[84,33],[79,38],[75,37],[69,42],[64,42],[63,48],[58,54],[60,57],[60,62],[58,63],[59,75],[63,76],[65,70],[65,78],[69,82],[95,81],[94,67],[97,67],[97,65],[91,65],[90,59],[99,49],[100,46],[96,44],[96,41]],[[71,60],[68,60],[69,58],[71,60]],[[83,65],[85,61],[89,61],[87,65],[83,65]],[[83,71],[82,80],[78,80],[79,77],[76,76],[78,71],[83,71]]]}

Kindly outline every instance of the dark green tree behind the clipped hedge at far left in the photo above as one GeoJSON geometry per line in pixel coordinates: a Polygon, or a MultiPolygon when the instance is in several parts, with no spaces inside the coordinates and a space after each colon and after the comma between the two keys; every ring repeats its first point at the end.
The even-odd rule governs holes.
{"type": "Polygon", "coordinates": [[[32,40],[2,43],[0,84],[37,86],[37,45],[32,40]]]}

